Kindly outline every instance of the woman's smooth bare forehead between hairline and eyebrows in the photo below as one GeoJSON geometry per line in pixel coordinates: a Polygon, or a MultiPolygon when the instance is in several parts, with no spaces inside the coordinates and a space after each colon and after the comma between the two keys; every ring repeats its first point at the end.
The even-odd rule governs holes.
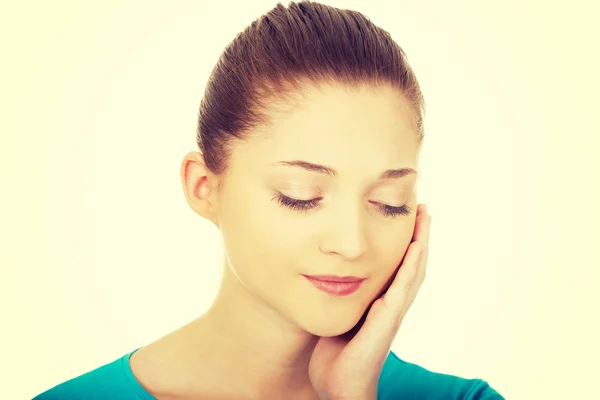
{"type": "Polygon", "coordinates": [[[307,87],[293,107],[269,115],[263,138],[245,143],[243,158],[262,158],[265,165],[302,159],[340,171],[357,166],[416,169],[413,115],[404,96],[388,87],[307,87]]]}

